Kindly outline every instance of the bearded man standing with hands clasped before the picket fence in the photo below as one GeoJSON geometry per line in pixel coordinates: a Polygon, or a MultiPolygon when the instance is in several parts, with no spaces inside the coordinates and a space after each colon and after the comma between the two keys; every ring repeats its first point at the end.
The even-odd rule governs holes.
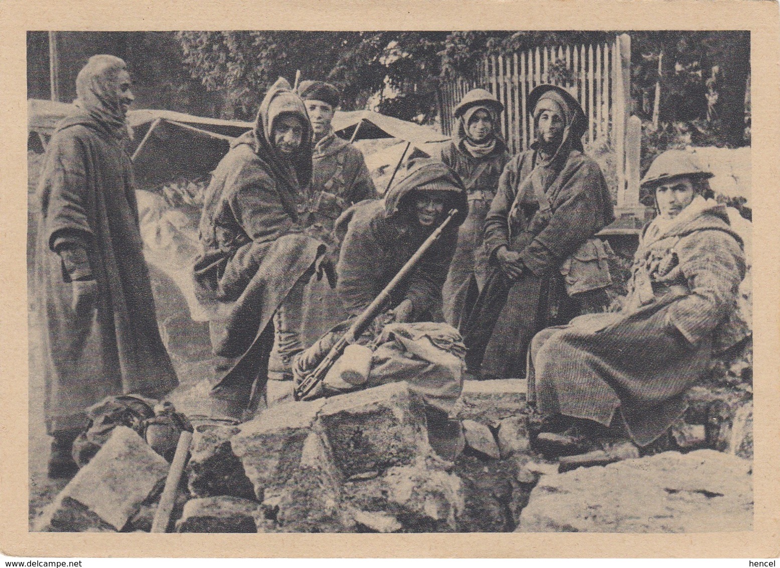
{"type": "MultiPolygon", "coordinates": [[[[481,378],[523,377],[534,334],[580,314],[586,298],[569,297],[562,264],[614,218],[604,175],[583,153],[579,103],[553,85],[536,87],[528,102],[536,142],[499,179],[485,220],[488,281],[460,326],[466,364],[481,378]]],[[[583,261],[600,261],[595,247],[583,261]]]]}

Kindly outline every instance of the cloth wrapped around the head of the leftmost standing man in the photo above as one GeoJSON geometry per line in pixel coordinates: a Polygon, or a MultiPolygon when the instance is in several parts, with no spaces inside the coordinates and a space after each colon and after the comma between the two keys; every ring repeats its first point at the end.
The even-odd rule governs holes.
{"type": "Polygon", "coordinates": [[[119,72],[126,64],[114,55],[93,55],[76,76],[73,104],[117,137],[127,134],[126,115],[119,101],[119,72]]]}

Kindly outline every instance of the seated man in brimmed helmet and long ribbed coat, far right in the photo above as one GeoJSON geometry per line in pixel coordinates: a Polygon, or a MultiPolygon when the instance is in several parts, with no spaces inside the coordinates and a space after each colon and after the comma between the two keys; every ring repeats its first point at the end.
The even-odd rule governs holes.
{"type": "Polygon", "coordinates": [[[685,413],[685,392],[727,335],[745,275],[742,239],[708,198],[711,176],[684,151],[658,156],[642,181],[657,216],[642,233],[622,310],[534,337],[529,392],[544,453],[580,453],[615,432],[643,448],[685,413]]]}

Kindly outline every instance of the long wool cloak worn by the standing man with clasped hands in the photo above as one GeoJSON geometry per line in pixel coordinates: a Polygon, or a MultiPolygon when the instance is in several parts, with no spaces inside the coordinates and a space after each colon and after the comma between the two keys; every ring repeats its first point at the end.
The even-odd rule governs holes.
{"type": "MultiPolygon", "coordinates": [[[[572,149],[539,165],[531,148],[506,165],[485,221],[488,280],[460,331],[470,371],[486,378],[522,377],[534,333],[578,315],[560,266],[613,219],[612,201],[598,164],[572,149]],[[539,208],[532,172],[544,178],[550,212],[539,208]],[[527,268],[509,282],[495,257],[499,247],[519,252],[527,268]]],[[[591,259],[587,259],[591,260],[591,259]]]]}

